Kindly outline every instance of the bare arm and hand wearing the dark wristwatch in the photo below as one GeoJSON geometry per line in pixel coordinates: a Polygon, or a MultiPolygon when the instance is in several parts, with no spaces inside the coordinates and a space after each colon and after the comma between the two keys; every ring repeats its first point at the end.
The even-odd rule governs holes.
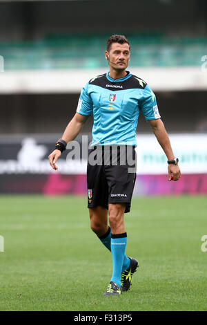
{"type": "MultiPolygon", "coordinates": [[[[161,121],[161,119],[150,120],[149,122],[153,132],[155,133],[157,141],[164,150],[168,160],[174,160],[175,156],[173,154],[170,139],[168,138],[168,133],[166,132],[164,123],[161,121]]],[[[173,180],[179,180],[181,172],[178,165],[168,165],[168,180],[171,180],[171,176],[173,176],[173,180]]]]}

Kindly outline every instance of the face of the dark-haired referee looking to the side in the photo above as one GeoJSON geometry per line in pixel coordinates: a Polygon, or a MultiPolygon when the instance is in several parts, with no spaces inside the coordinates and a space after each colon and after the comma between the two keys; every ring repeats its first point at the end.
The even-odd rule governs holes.
{"type": "Polygon", "coordinates": [[[128,66],[128,61],[130,59],[130,49],[127,43],[119,44],[112,43],[110,51],[106,50],[106,58],[109,57],[109,66],[112,66],[115,70],[125,70],[128,66]]]}

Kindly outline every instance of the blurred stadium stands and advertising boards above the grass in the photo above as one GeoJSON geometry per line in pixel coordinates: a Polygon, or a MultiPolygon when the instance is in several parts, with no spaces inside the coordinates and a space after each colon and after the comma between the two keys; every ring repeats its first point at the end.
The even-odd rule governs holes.
{"type": "MultiPolygon", "coordinates": [[[[86,194],[86,164],[67,166],[63,154],[64,168],[53,173],[46,160],[75,114],[81,87],[108,71],[106,39],[122,33],[132,46],[128,69],[155,91],[182,171],[179,183],[166,182],[166,158],[141,116],[135,196],[205,194],[206,6],[202,0],[1,1],[0,192],[86,194]]],[[[77,140],[82,134],[90,140],[91,128],[92,118],[77,140]]]]}

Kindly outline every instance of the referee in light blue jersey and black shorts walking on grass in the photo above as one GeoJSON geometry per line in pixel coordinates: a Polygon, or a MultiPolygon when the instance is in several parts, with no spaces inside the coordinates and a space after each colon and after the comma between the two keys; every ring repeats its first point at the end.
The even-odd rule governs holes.
{"type": "Polygon", "coordinates": [[[56,170],[57,159],[67,143],[77,137],[88,117],[93,115],[87,167],[90,227],[112,254],[112,277],[103,295],[121,295],[130,288],[138,266],[137,259],[125,254],[124,213],[130,211],[135,186],[135,137],[140,112],[150,122],[166,154],[168,180],[179,180],[181,173],[155,94],[144,80],[126,71],[130,59],[128,39],[124,35],[112,35],[106,42],[105,57],[109,72],[93,77],[83,87],[77,113],[48,158],[56,170]],[[94,157],[97,159],[92,159],[94,157]]]}

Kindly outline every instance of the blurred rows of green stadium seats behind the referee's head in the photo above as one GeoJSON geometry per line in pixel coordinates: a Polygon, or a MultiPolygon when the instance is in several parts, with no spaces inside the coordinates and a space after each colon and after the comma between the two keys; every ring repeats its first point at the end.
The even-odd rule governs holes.
{"type": "MultiPolygon", "coordinates": [[[[34,41],[0,42],[5,71],[100,68],[109,35],[46,35],[34,41]]],[[[127,35],[131,66],[200,66],[207,53],[206,37],[169,38],[162,33],[127,35]]]]}

